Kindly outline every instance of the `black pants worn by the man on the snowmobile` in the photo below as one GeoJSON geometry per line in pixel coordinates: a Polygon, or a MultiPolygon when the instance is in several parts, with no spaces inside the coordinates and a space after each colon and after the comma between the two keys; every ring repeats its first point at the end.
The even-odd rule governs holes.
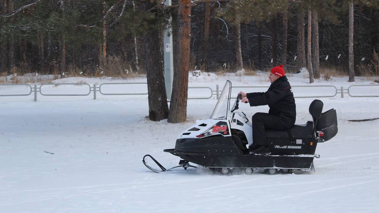
{"type": "Polygon", "coordinates": [[[266,146],[266,129],[286,130],[292,127],[293,123],[287,123],[277,115],[268,113],[255,113],[251,121],[253,125],[253,144],[252,146],[266,146]]]}

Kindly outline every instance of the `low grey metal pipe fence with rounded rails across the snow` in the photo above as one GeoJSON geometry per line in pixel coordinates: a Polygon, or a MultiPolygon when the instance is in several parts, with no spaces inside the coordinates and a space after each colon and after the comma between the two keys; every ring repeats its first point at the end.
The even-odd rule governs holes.
{"type": "MultiPolygon", "coordinates": [[[[87,84],[87,83],[49,83],[49,84],[42,84],[42,85],[34,85],[33,87],[28,84],[0,84],[0,89],[6,88],[6,87],[27,87],[24,91],[18,91],[15,89],[16,92],[8,93],[8,94],[2,94],[0,90],[0,97],[5,97],[5,96],[29,96],[30,94],[34,93],[34,101],[37,101],[37,95],[38,93],[41,96],[89,96],[91,92],[93,93],[93,99],[95,100],[97,98],[97,92],[100,92],[100,94],[104,96],[133,96],[133,95],[147,95],[148,93],[141,93],[141,92],[120,92],[120,93],[109,93],[106,92],[106,86],[108,85],[147,85],[147,83],[102,83],[100,86],[97,86],[94,84],[93,86],[87,84]],[[83,93],[80,94],[53,94],[53,93],[48,93],[42,90],[43,88],[47,87],[52,89],[56,88],[60,85],[74,85],[74,86],[86,86],[88,89],[84,89],[83,93]]],[[[324,95],[324,94],[317,94],[315,96],[295,96],[295,98],[330,98],[330,97],[336,97],[337,94],[341,94],[341,98],[345,97],[345,94],[348,94],[350,97],[379,97],[379,92],[377,95],[373,94],[352,94],[352,89],[351,88],[360,88],[360,87],[374,87],[374,86],[379,86],[379,85],[351,85],[348,87],[348,89],[344,89],[343,86],[341,86],[341,89],[338,89],[336,86],[333,85],[301,85],[301,86],[291,86],[292,88],[331,88],[331,94],[330,95],[324,95]]],[[[268,88],[268,86],[232,86],[232,88],[268,88]]],[[[216,99],[219,98],[220,90],[219,90],[219,85],[216,85],[216,89],[213,90],[211,87],[208,86],[200,86],[200,87],[188,87],[188,90],[191,91],[193,89],[209,89],[209,94],[205,97],[189,97],[188,99],[211,99],[214,96],[216,96],[216,99]]],[[[20,90],[20,89],[19,89],[20,90]]],[[[317,93],[317,91],[316,91],[317,93]]]]}

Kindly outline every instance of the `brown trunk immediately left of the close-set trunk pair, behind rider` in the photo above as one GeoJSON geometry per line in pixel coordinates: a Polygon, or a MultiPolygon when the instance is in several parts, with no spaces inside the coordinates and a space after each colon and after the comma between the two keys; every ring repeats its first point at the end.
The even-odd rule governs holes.
{"type": "Polygon", "coordinates": [[[306,66],[304,41],[304,5],[298,10],[298,72],[306,66]]]}

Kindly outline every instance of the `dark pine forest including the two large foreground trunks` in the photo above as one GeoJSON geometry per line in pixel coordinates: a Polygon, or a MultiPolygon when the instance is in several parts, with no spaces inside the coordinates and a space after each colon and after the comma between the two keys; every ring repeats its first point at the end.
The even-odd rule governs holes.
{"type": "Polygon", "coordinates": [[[310,83],[379,74],[377,0],[172,0],[172,6],[164,0],[2,0],[0,6],[2,76],[146,74],[152,120],[168,116],[165,92],[154,92],[164,87],[168,27],[175,70],[169,122],[185,121],[189,70],[254,75],[283,64],[286,72],[307,70],[310,83]]]}

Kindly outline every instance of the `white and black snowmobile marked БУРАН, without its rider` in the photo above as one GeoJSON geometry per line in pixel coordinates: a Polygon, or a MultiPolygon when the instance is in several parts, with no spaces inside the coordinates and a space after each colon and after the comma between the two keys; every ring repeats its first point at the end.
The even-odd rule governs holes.
{"type": "MultiPolygon", "coordinates": [[[[163,150],[182,158],[174,168],[196,167],[190,165],[191,162],[220,174],[315,171],[313,159],[319,157],[315,155],[317,144],[328,141],[338,132],[335,109],[322,113],[323,102],[313,100],[309,106],[313,121],[288,130],[266,130],[271,154],[258,155],[249,151],[253,144],[252,124],[245,113],[237,111],[241,97],[230,107],[231,90],[232,83],[227,80],[211,117],[180,133],[174,149],[163,150]]],[[[161,171],[149,166],[147,157],[152,158],[161,171],[172,169],[165,169],[153,157],[145,155],[143,163],[154,172],[161,171]]]]}

